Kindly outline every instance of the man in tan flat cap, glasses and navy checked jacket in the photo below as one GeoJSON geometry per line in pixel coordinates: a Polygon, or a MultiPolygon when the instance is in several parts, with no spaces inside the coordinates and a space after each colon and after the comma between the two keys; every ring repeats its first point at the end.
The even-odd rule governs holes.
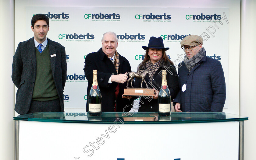
{"type": "Polygon", "coordinates": [[[180,91],[173,101],[175,110],[222,112],[226,84],[221,63],[206,56],[200,36],[186,36],[180,44],[186,55],[178,67],[180,91]]]}

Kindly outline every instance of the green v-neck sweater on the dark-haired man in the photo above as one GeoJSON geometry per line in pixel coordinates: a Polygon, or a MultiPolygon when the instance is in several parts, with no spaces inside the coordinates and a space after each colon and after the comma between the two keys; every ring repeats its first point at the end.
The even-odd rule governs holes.
{"type": "Polygon", "coordinates": [[[49,101],[58,99],[57,89],[52,77],[48,43],[42,53],[36,48],[37,72],[32,100],[49,101]]]}

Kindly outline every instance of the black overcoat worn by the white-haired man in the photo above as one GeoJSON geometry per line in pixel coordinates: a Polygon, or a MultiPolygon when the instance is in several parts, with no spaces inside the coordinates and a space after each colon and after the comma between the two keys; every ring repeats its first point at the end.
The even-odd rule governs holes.
{"type": "MultiPolygon", "coordinates": [[[[98,50],[98,52],[93,52],[87,54],[85,57],[85,65],[84,65],[84,74],[88,80],[87,87],[87,95],[90,94],[92,80],[93,80],[93,70],[98,71],[98,85],[100,88],[101,96],[102,96],[102,112],[113,112],[114,106],[116,103],[116,111],[123,112],[123,108],[129,104],[128,99],[123,99],[122,95],[124,89],[127,86],[127,82],[122,84],[119,83],[119,93],[116,99],[115,89],[118,85],[117,82],[112,82],[108,84],[108,79],[111,75],[118,75],[120,73],[124,74],[126,72],[131,71],[131,66],[129,61],[119,54],[119,70],[116,72],[116,68],[112,61],[107,57],[107,55],[102,51],[102,48],[98,50]]],[[[88,112],[88,100],[86,104],[86,111],[88,112]]],[[[128,108],[131,108],[129,106],[128,108]]],[[[128,110],[128,109],[127,109],[128,110]]]]}

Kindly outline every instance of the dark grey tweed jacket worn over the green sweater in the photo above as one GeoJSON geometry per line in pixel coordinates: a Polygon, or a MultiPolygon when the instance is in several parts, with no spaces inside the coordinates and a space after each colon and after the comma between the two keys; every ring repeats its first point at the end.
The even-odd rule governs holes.
{"type": "MultiPolygon", "coordinates": [[[[52,76],[60,99],[61,111],[64,112],[63,89],[66,83],[67,63],[65,47],[48,39],[52,76]]],[[[34,82],[36,78],[36,52],[34,37],[20,42],[13,56],[12,82],[18,88],[16,93],[15,111],[26,114],[30,108],[34,82]]]]}

